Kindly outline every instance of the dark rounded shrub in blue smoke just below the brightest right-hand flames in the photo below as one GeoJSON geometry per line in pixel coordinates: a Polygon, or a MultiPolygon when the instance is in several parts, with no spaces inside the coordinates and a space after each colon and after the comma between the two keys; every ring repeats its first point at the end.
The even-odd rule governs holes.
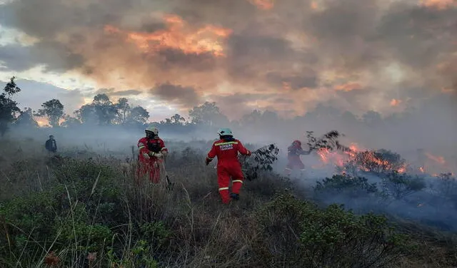
{"type": "Polygon", "coordinates": [[[382,178],[382,185],[386,196],[401,200],[414,192],[423,190],[426,187],[426,182],[421,177],[413,177],[393,170],[382,178]]]}

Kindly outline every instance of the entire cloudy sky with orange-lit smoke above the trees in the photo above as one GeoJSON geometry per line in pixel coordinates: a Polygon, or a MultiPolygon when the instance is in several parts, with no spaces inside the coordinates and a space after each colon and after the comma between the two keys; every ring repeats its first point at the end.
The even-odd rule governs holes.
{"type": "Polygon", "coordinates": [[[96,93],[151,119],[318,103],[383,115],[457,90],[457,0],[0,1],[0,81],[21,107],[96,93]]]}

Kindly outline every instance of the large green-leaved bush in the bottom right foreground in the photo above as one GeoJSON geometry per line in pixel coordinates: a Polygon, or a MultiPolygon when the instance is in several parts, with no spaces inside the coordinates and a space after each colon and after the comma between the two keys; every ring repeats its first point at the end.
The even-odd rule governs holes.
{"type": "Polygon", "coordinates": [[[408,250],[386,217],[338,205],[321,210],[290,194],[277,195],[256,219],[258,254],[269,267],[385,267],[408,250]]]}

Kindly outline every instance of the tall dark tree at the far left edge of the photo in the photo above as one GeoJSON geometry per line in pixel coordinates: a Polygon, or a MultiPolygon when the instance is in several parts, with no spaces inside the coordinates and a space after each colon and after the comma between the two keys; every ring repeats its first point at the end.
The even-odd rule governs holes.
{"type": "Polygon", "coordinates": [[[13,76],[11,81],[4,87],[4,92],[0,94],[0,134],[2,137],[8,130],[8,125],[13,123],[21,113],[16,101],[11,100],[11,96],[21,91],[14,79],[15,77],[13,76]]]}

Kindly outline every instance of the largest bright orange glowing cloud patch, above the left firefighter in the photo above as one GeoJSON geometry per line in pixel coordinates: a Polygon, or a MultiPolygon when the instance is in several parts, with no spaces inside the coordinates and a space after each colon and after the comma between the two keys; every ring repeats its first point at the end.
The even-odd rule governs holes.
{"type": "Polygon", "coordinates": [[[153,33],[122,31],[111,25],[105,26],[104,30],[106,33],[126,36],[126,40],[149,53],[163,48],[174,48],[184,53],[212,53],[214,56],[224,56],[224,44],[221,39],[230,36],[230,29],[211,25],[192,29],[176,15],[164,16],[164,22],[167,29],[153,33]]]}

